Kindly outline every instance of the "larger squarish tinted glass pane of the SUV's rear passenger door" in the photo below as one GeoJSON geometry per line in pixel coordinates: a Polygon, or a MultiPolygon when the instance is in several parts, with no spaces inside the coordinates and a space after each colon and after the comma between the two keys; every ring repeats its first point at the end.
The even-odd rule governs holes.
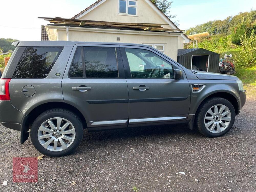
{"type": "Polygon", "coordinates": [[[114,47],[83,47],[87,78],[118,78],[114,47]]]}

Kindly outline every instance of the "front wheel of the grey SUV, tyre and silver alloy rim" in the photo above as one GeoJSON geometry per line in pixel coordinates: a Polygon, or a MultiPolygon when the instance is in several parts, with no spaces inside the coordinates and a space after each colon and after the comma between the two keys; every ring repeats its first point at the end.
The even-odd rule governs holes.
{"type": "Polygon", "coordinates": [[[196,116],[196,126],[207,137],[220,137],[232,128],[236,112],[233,105],[223,98],[205,101],[196,116]]]}

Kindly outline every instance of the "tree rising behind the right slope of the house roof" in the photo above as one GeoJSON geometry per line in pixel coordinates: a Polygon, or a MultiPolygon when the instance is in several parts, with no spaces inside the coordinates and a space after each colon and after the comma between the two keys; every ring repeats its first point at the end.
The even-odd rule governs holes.
{"type": "MultiPolygon", "coordinates": [[[[175,18],[176,15],[170,14],[170,8],[173,1],[169,0],[151,0],[169,19],[175,18]]],[[[179,25],[179,20],[173,22],[175,25],[179,25]]]]}

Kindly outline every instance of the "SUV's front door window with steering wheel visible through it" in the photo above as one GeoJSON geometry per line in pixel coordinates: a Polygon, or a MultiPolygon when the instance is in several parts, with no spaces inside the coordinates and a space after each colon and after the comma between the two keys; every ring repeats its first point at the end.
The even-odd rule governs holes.
{"type": "Polygon", "coordinates": [[[125,48],[132,78],[174,78],[172,65],[152,51],[125,48]]]}

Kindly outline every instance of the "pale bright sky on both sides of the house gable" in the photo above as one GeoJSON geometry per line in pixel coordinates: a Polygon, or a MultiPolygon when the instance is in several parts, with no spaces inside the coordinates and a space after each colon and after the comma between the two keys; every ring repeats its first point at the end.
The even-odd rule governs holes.
{"type": "MultiPolygon", "coordinates": [[[[48,22],[37,17],[71,18],[96,0],[12,0],[0,3],[0,38],[21,41],[41,40],[41,25],[48,22]]],[[[256,9],[256,0],[172,0],[172,20],[180,29],[188,29],[210,20],[225,19],[239,12],[256,9]]]]}

